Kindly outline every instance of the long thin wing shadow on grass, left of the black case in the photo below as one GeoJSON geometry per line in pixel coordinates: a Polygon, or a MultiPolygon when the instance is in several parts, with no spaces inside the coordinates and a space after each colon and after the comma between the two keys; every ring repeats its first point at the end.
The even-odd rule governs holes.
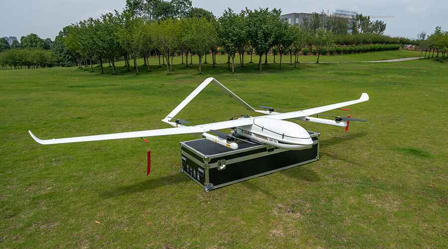
{"type": "Polygon", "coordinates": [[[182,182],[190,181],[184,174],[173,174],[162,176],[159,178],[151,178],[145,181],[137,182],[127,186],[120,186],[100,194],[103,199],[109,199],[120,195],[129,195],[133,193],[143,192],[156,189],[165,185],[175,185],[182,182]]]}

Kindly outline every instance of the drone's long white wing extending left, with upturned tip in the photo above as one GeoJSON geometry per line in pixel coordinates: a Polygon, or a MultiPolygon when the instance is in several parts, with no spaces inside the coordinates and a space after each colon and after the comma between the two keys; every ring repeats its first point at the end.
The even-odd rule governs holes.
{"type": "Polygon", "coordinates": [[[252,118],[247,118],[247,119],[229,120],[211,124],[182,126],[177,128],[151,129],[151,130],[111,133],[103,135],[53,138],[46,140],[38,138],[31,132],[31,130],[28,130],[28,132],[31,135],[31,137],[40,144],[55,144],[55,143],[87,142],[87,141],[100,141],[100,140],[111,140],[122,138],[147,137],[147,136],[163,136],[163,135],[175,135],[175,134],[187,134],[187,133],[203,133],[212,129],[225,129],[235,126],[249,125],[252,123],[253,123],[252,118]]]}

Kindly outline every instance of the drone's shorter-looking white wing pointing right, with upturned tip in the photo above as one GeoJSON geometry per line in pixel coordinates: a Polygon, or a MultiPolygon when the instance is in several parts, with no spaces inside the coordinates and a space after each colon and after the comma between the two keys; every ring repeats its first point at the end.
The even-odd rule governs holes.
{"type": "Polygon", "coordinates": [[[315,107],[315,108],[311,108],[311,109],[305,109],[305,110],[297,111],[297,112],[270,115],[269,118],[276,119],[276,120],[287,120],[287,119],[307,117],[307,116],[311,116],[314,114],[319,114],[319,113],[327,112],[330,110],[334,110],[336,108],[346,107],[346,106],[354,105],[357,103],[365,102],[368,100],[369,100],[369,95],[366,93],[362,93],[361,97],[357,100],[345,101],[345,102],[341,102],[341,103],[337,103],[337,104],[332,104],[332,105],[327,105],[327,106],[322,106],[322,107],[315,107]]]}

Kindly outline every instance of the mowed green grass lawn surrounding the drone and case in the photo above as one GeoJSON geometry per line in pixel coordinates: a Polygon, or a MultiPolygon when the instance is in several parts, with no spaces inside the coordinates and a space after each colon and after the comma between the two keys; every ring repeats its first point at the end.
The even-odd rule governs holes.
{"type": "MultiPolygon", "coordinates": [[[[0,71],[0,247],[447,248],[448,64],[277,66],[0,71]],[[207,77],[279,112],[367,92],[370,101],[348,113],[368,122],[347,133],[299,123],[321,132],[319,161],[208,193],[179,172],[179,141],[199,135],[148,138],[146,176],[148,144],[139,138],[45,146],[27,133],[168,127],[160,120],[207,77]]],[[[178,118],[241,114],[254,115],[209,86],[178,118]]]]}

